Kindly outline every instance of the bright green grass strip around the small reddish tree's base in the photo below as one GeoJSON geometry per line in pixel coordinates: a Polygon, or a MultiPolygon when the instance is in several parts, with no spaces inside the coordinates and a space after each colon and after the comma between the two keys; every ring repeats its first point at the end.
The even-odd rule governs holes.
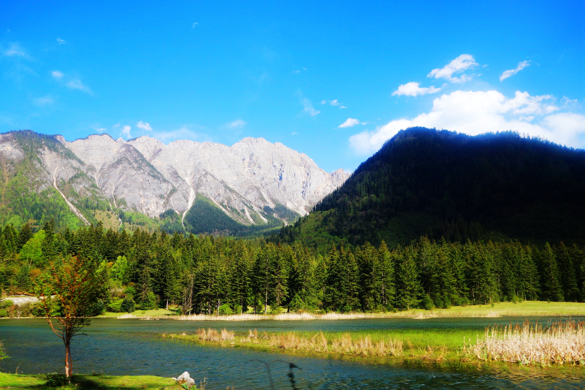
{"type": "MultiPolygon", "coordinates": [[[[45,390],[54,389],[45,385],[47,381],[44,375],[15,375],[0,372],[0,389],[18,390],[45,390]]],[[[150,375],[112,377],[109,375],[73,375],[73,383],[57,389],[100,389],[100,390],[130,390],[130,389],[156,389],[156,390],[183,390],[171,378],[152,377],[150,375]]]]}

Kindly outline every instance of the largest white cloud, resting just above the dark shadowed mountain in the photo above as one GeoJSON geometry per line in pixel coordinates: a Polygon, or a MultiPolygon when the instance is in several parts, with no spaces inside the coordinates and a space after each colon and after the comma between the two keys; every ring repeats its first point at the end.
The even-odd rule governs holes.
{"type": "Polygon", "coordinates": [[[552,100],[550,95],[531,96],[520,91],[514,98],[498,91],[455,91],[434,99],[428,113],[396,119],[374,131],[355,134],[349,143],[356,153],[369,154],[399,130],[424,126],[471,135],[514,130],[567,146],[585,146],[585,116],[570,112],[553,114],[559,108],[548,103],[552,100]],[[539,118],[536,123],[531,123],[536,118],[539,118]]]}

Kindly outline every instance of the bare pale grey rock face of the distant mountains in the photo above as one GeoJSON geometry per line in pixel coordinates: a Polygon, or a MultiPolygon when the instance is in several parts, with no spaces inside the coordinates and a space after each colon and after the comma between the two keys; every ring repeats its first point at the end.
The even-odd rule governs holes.
{"type": "MultiPolygon", "coordinates": [[[[189,140],[166,145],[148,136],[125,141],[107,134],[73,142],[37,138],[41,187],[63,190],[66,199],[71,189],[98,196],[151,218],[170,209],[184,217],[197,195],[245,225],[266,222],[264,216],[278,216],[275,209],[283,206],[305,215],[349,177],[341,169],[325,172],[307,155],[262,138],[232,146],[189,140]]],[[[19,139],[0,134],[0,160],[25,158],[19,139]]]]}

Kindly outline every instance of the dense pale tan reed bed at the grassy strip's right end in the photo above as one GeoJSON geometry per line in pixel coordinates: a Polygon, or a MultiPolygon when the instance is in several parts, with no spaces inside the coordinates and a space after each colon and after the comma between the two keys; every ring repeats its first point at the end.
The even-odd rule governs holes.
{"type": "MultiPolygon", "coordinates": [[[[466,346],[467,348],[467,346],[466,346]]],[[[484,361],[520,364],[585,364],[585,322],[559,321],[548,327],[522,325],[486,328],[484,338],[468,353],[484,361]]]]}

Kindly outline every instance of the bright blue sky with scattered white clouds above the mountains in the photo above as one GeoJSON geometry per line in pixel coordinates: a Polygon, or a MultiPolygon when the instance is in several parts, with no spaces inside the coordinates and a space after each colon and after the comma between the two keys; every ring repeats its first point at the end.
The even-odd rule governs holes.
{"type": "Polygon", "coordinates": [[[1,132],[264,137],[327,171],[412,125],[585,147],[583,1],[82,3],[0,4],[1,132]]]}

